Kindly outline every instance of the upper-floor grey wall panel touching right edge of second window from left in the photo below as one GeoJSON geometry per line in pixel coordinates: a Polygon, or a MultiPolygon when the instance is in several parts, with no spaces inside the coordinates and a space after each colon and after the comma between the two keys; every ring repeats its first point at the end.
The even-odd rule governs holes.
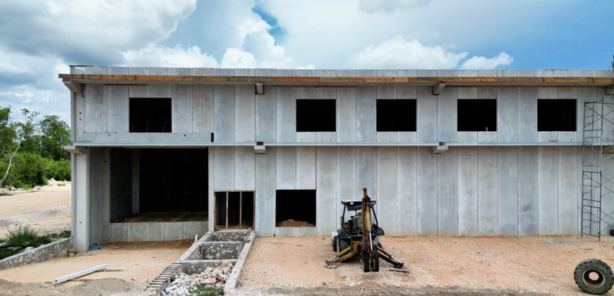
{"type": "Polygon", "coordinates": [[[356,142],[356,88],[337,87],[337,142],[356,142]]]}

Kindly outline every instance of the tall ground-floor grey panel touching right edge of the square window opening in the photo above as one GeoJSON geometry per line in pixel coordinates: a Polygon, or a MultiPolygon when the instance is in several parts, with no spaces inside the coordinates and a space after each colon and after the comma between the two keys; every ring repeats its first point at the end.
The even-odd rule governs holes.
{"type": "Polygon", "coordinates": [[[317,235],[330,235],[337,228],[335,205],[337,194],[337,149],[336,147],[316,147],[315,150],[315,200],[317,235]]]}

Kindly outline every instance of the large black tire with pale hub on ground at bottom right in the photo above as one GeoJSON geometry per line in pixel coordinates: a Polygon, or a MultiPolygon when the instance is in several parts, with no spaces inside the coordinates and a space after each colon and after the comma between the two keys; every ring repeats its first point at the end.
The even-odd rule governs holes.
{"type": "Polygon", "coordinates": [[[588,259],[580,262],[574,270],[576,285],[584,292],[594,295],[602,295],[608,292],[614,284],[614,274],[608,264],[601,260],[588,259]],[[595,272],[597,280],[591,280],[588,276],[595,272]]]}

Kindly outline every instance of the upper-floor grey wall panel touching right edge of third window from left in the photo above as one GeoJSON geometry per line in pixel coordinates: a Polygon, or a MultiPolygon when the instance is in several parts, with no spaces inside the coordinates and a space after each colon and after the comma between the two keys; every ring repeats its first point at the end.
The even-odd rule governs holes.
{"type": "Polygon", "coordinates": [[[418,142],[437,142],[437,96],[431,87],[418,87],[417,125],[418,142]]]}

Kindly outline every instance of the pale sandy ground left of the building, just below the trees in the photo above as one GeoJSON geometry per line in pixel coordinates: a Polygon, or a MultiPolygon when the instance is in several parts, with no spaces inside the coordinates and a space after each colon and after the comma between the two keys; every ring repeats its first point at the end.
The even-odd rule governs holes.
{"type": "Polygon", "coordinates": [[[0,196],[0,217],[14,216],[54,208],[56,206],[71,205],[71,186],[52,187],[40,192],[28,192],[18,195],[0,196]]]}

